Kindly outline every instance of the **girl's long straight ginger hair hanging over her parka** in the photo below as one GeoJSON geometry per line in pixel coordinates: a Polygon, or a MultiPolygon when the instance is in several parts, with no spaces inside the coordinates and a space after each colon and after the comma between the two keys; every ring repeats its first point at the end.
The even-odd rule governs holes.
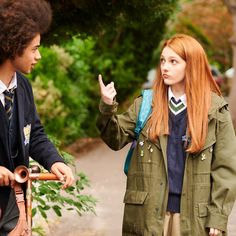
{"type": "MultiPolygon", "coordinates": [[[[197,40],[188,35],[177,34],[164,43],[162,50],[166,46],[186,62],[184,80],[187,97],[187,136],[191,139],[187,151],[196,153],[203,148],[208,132],[211,92],[219,96],[221,92],[212,77],[204,49],[197,40]]],[[[164,84],[160,68],[157,68],[153,94],[149,135],[152,140],[156,140],[161,135],[169,134],[168,86],[164,84]]]]}

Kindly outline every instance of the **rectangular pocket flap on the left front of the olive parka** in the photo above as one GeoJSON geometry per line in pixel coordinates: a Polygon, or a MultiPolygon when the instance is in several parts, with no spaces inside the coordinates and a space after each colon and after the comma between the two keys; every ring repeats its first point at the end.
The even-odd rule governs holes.
{"type": "Polygon", "coordinates": [[[142,205],[147,198],[148,192],[126,190],[124,203],[142,205]]]}

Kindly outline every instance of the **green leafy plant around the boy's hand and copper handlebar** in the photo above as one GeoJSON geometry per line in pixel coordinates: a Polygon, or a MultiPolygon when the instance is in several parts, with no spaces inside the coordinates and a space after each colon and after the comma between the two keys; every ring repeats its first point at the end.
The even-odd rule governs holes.
{"type": "MultiPolygon", "coordinates": [[[[67,152],[61,151],[58,147],[60,142],[54,137],[50,137],[58,149],[65,162],[75,170],[75,185],[62,190],[62,183],[58,181],[37,181],[32,185],[33,208],[32,217],[40,214],[47,221],[49,210],[53,210],[58,217],[63,215],[63,210],[75,211],[81,216],[84,212],[95,214],[96,199],[82,191],[89,187],[89,179],[83,173],[78,173],[75,168],[75,158],[67,152]]],[[[31,166],[37,164],[31,160],[31,166]]],[[[38,165],[38,164],[37,164],[38,165]]],[[[45,170],[41,167],[42,172],[45,170]]],[[[33,225],[33,232],[37,235],[45,236],[44,229],[41,226],[33,225]]]]}

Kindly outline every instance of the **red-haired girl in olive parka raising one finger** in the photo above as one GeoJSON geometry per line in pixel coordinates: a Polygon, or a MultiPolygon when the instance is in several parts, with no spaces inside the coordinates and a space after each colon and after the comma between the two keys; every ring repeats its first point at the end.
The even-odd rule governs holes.
{"type": "MultiPolygon", "coordinates": [[[[119,150],[135,139],[142,96],[117,115],[114,83],[101,89],[98,128],[119,150]]],[[[228,104],[202,46],[188,35],[165,41],[152,112],[132,154],[123,235],[226,235],[236,194],[236,138],[228,104]]]]}

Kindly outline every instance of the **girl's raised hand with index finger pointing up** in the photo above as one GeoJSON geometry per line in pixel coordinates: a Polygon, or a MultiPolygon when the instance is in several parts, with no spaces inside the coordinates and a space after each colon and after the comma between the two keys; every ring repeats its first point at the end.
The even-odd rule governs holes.
{"type": "Polygon", "coordinates": [[[102,75],[98,75],[98,82],[99,82],[101,98],[102,98],[103,102],[108,105],[112,105],[113,99],[117,94],[116,89],[114,87],[114,83],[111,82],[111,83],[105,85],[102,80],[102,75]]]}

